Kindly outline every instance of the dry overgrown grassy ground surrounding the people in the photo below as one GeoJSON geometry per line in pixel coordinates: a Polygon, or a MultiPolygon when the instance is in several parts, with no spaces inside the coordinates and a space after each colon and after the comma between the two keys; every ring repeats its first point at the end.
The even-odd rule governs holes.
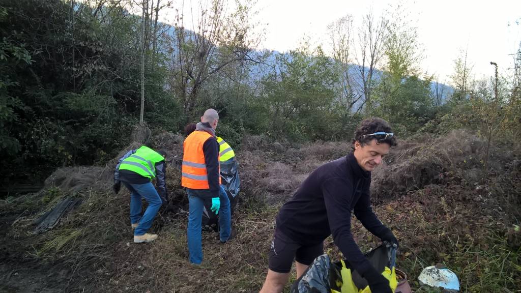
{"type": "MultiPolygon", "coordinates": [[[[472,136],[466,139],[473,140],[470,143],[479,141],[472,136]]],[[[519,210],[521,186],[517,167],[502,161],[501,150],[495,150],[492,157],[498,169],[482,189],[464,176],[468,173],[465,170],[476,168],[472,162],[479,164],[479,158],[469,157],[477,156],[480,149],[466,150],[465,141],[461,145],[453,143],[455,151],[446,154],[451,157],[450,164],[444,160],[438,160],[441,165],[430,164],[436,160],[429,159],[429,155],[442,157],[437,153],[440,148],[429,149],[436,143],[448,141],[404,143],[391,155],[394,162],[382,168],[382,172],[392,172],[388,177],[400,172],[419,175],[402,174],[386,182],[375,174],[375,188],[380,191],[375,212],[401,241],[398,266],[407,272],[416,292],[436,291],[421,287],[415,280],[424,266],[437,262],[456,272],[464,292],[519,292],[521,234],[514,226],[519,219],[515,210],[519,210]],[[427,163],[433,171],[424,174],[421,168],[427,163]],[[420,169],[415,169],[418,166],[420,169]],[[425,176],[438,179],[421,179],[425,176]]],[[[217,234],[203,234],[202,266],[188,262],[187,211],[163,213],[153,226],[159,233],[158,241],[135,245],[131,241],[126,191],[115,196],[106,189],[77,193],[84,199],[80,208],[42,235],[30,234],[33,219],[68,193],[53,188],[3,203],[4,213],[21,213],[7,231],[3,250],[9,252],[9,258],[18,255],[70,268],[72,283],[79,290],[255,292],[265,277],[274,218],[280,205],[305,174],[321,162],[341,156],[347,146],[315,143],[283,154],[266,152],[265,146],[247,146],[239,153],[243,193],[234,218],[238,237],[221,245],[217,234]],[[276,184],[275,179],[279,180],[276,184]]],[[[170,167],[169,177],[170,190],[179,191],[179,171],[175,167],[170,167]]],[[[182,198],[182,192],[172,194],[182,198]]],[[[355,239],[364,250],[378,245],[378,239],[356,220],[353,223],[355,239]]],[[[331,239],[326,240],[325,248],[333,257],[339,257],[331,239]]]]}

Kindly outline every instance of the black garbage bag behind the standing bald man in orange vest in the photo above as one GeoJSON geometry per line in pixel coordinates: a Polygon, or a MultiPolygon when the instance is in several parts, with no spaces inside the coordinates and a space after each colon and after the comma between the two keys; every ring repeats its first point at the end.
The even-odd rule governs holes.
{"type": "MultiPolygon", "coordinates": [[[[221,184],[226,191],[226,195],[230,200],[231,215],[235,212],[235,207],[238,202],[238,195],[241,189],[241,180],[239,178],[239,163],[235,157],[220,164],[221,184]]],[[[203,209],[202,229],[204,231],[219,231],[219,217],[214,212],[210,211],[212,207],[211,201],[205,201],[203,209]]]]}

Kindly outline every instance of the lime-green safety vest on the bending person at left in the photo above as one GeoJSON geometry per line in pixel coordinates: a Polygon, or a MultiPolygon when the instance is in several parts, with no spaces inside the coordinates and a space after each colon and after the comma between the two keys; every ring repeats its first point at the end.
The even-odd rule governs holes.
{"type": "Polygon", "coordinates": [[[155,164],[164,161],[165,158],[156,151],[141,146],[119,165],[120,170],[130,170],[150,180],[156,177],[155,164]]]}

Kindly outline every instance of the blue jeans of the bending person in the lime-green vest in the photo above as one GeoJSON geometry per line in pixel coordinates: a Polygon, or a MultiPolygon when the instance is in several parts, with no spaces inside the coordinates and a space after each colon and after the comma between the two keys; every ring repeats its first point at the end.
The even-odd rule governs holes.
{"type": "Polygon", "coordinates": [[[138,227],[134,229],[134,236],[143,235],[152,226],[163,201],[151,182],[145,184],[123,182],[123,185],[130,190],[130,224],[139,223],[138,227]],[[141,215],[141,197],[148,202],[143,215],[141,215]]]}

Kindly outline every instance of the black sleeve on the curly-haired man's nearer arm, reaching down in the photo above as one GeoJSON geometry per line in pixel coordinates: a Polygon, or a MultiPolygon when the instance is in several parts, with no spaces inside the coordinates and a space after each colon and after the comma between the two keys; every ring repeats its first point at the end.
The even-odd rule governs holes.
{"type": "Polygon", "coordinates": [[[352,190],[353,187],[343,178],[329,178],[322,184],[329,227],[334,243],[355,270],[364,275],[374,268],[364,257],[353,238],[353,234],[351,234],[352,190]]]}

